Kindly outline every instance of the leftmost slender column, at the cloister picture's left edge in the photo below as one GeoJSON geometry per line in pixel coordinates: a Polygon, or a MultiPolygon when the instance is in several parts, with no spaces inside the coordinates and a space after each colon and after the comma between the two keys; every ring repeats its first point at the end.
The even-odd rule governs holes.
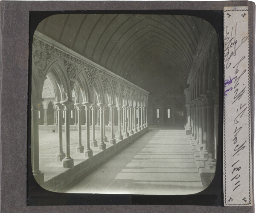
{"type": "Polygon", "coordinates": [[[38,118],[38,105],[42,103],[44,99],[31,99],[32,109],[31,109],[31,117],[32,117],[32,134],[31,134],[31,144],[33,149],[31,152],[33,153],[33,175],[38,184],[44,183],[44,173],[39,170],[39,118],[38,118]]]}

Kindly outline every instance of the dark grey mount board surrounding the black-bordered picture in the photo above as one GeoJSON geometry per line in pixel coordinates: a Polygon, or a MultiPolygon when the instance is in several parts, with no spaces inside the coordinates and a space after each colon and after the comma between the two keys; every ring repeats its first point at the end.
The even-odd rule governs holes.
{"type": "MultiPolygon", "coordinates": [[[[220,2],[79,2],[1,1],[0,13],[0,210],[1,212],[254,212],[253,207],[211,207],[192,205],[94,205],[26,206],[27,109],[29,67],[29,11],[64,10],[223,10],[224,6],[249,7],[250,97],[254,118],[255,5],[248,1],[220,2]]],[[[254,129],[254,120],[251,124],[254,129]]],[[[252,141],[254,135],[252,132],[252,141]]],[[[253,144],[254,145],[254,144],[253,144]]]]}

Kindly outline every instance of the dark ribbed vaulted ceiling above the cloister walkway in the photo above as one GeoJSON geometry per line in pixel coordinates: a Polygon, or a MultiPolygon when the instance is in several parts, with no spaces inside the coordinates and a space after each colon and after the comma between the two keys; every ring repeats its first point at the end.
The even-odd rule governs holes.
{"type": "Polygon", "coordinates": [[[151,94],[183,93],[204,20],[145,14],[58,14],[37,30],[151,94]]]}

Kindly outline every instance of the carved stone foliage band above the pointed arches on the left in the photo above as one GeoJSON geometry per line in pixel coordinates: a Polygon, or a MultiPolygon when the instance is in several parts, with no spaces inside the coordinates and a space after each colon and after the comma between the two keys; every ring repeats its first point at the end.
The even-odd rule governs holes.
{"type": "MultiPolygon", "coordinates": [[[[117,94],[117,85],[120,83],[122,84],[121,89],[123,88],[122,97],[124,97],[124,89],[127,87],[131,88],[131,86],[120,80],[119,78],[116,78],[107,72],[104,72],[100,69],[97,69],[87,62],[84,62],[78,58],[75,58],[71,56],[69,53],[66,53],[64,51],[61,51],[60,49],[55,48],[52,45],[49,45],[45,43],[42,40],[39,40],[38,38],[33,39],[33,46],[36,47],[36,50],[33,54],[33,62],[35,62],[35,66],[38,69],[38,75],[40,78],[44,76],[43,71],[47,67],[47,62],[49,63],[50,60],[52,60],[55,57],[61,58],[64,60],[65,66],[67,67],[67,73],[70,79],[70,84],[74,85],[74,82],[76,81],[77,77],[77,71],[79,70],[79,67],[83,68],[86,72],[87,79],[89,81],[90,88],[93,89],[93,83],[96,80],[96,77],[98,75],[102,78],[102,84],[104,92],[107,92],[108,83],[112,82],[114,94],[117,94]]],[[[138,90],[137,88],[134,90],[138,90]]],[[[140,92],[141,93],[141,92],[140,92]]],[[[144,93],[143,93],[144,94],[144,93]]],[[[128,92],[128,95],[130,95],[130,92],[128,92]]]]}

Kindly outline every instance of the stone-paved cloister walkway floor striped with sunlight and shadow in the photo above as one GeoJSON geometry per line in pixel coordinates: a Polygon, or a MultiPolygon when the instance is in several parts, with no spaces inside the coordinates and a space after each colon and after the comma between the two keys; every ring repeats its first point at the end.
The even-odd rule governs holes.
{"type": "Polygon", "coordinates": [[[149,127],[66,193],[193,194],[203,190],[183,126],[149,127]]]}

